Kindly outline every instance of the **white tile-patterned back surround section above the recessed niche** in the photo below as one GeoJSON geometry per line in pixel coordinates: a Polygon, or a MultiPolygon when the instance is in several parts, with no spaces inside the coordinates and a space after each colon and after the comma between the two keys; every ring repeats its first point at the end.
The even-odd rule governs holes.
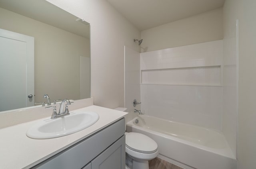
{"type": "Polygon", "coordinates": [[[222,40],[140,54],[140,69],[174,69],[222,65],[222,40]]]}

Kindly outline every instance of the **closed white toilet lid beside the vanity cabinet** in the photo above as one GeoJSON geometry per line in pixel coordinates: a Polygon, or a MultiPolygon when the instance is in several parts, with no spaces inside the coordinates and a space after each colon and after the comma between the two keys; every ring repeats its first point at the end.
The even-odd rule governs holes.
{"type": "Polygon", "coordinates": [[[157,151],[157,143],[150,137],[140,133],[126,133],[126,146],[141,153],[154,153],[157,151]]]}

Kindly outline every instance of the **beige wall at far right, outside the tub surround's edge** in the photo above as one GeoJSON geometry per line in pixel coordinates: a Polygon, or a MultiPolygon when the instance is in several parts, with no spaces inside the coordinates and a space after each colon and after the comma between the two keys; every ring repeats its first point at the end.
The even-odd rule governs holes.
{"type": "MultiPolygon", "coordinates": [[[[239,20],[238,59],[238,169],[256,166],[256,1],[226,0],[224,30],[239,20]]],[[[226,32],[224,31],[224,36],[226,32]]]]}

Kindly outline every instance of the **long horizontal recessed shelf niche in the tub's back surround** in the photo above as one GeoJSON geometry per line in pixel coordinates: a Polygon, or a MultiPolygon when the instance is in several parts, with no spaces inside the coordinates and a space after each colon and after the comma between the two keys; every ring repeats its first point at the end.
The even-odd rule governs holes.
{"type": "Polygon", "coordinates": [[[142,84],[220,86],[220,65],[141,71],[142,84]]]}

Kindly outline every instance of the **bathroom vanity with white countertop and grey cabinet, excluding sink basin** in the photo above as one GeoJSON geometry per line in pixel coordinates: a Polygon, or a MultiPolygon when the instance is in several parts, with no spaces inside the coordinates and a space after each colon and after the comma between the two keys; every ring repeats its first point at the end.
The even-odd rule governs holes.
{"type": "MultiPolygon", "coordinates": [[[[26,131],[44,118],[0,129],[0,168],[125,169],[126,112],[94,105],[83,108],[70,105],[70,112],[72,109],[96,112],[99,119],[84,130],[51,139],[26,136],[26,131]]],[[[35,109],[32,113],[38,112],[40,110],[35,109]]],[[[24,112],[19,113],[24,116],[24,112]]],[[[50,114],[51,111],[47,118],[50,114]]],[[[3,117],[1,120],[4,120],[3,117]]]]}

